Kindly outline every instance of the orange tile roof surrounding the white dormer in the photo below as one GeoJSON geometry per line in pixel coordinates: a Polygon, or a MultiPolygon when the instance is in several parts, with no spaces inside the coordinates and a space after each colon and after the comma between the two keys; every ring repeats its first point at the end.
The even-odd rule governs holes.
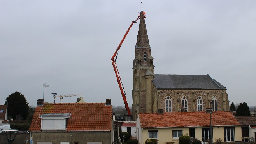
{"type": "Polygon", "coordinates": [[[112,106],[105,103],[68,103],[44,104],[37,106],[31,122],[30,131],[41,129],[41,118],[44,113],[71,113],[68,118],[67,131],[77,130],[111,130],[112,106]]]}

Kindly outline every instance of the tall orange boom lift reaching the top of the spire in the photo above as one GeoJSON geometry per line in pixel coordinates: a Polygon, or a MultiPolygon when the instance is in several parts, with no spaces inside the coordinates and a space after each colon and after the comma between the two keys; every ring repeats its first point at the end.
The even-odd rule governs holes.
{"type": "MultiPolygon", "coordinates": [[[[144,17],[146,17],[146,14],[144,13],[144,17]]],[[[121,48],[121,45],[123,44],[124,42],[124,39],[126,38],[127,34],[129,33],[130,29],[132,28],[132,25],[134,23],[137,23],[137,21],[139,21],[140,19],[140,12],[138,12],[138,18],[135,20],[135,21],[132,21],[131,25],[129,26],[128,30],[126,31],[126,33],[124,34],[124,37],[123,39],[121,40],[121,42],[119,43],[115,53],[113,54],[111,60],[112,60],[112,65],[114,67],[114,71],[115,71],[115,74],[116,74],[116,78],[117,78],[117,82],[118,82],[118,85],[119,85],[119,88],[121,90],[121,94],[122,94],[122,97],[123,97],[123,100],[124,100],[124,104],[125,104],[125,108],[126,108],[126,111],[128,112],[128,115],[132,115],[131,114],[131,111],[129,109],[129,106],[128,106],[128,103],[127,103],[127,100],[126,100],[126,93],[125,93],[125,90],[124,90],[124,87],[123,87],[123,83],[121,81],[121,77],[119,75],[119,71],[117,69],[117,65],[116,65],[116,59],[117,59],[117,56],[118,56],[118,52],[121,48]]]]}

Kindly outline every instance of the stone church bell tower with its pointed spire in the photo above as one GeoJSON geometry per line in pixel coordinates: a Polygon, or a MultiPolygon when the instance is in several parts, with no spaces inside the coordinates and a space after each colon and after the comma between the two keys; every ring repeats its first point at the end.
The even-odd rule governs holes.
{"type": "Polygon", "coordinates": [[[132,116],[137,120],[138,113],[153,112],[152,80],[154,78],[154,59],[145,24],[146,14],[141,11],[140,24],[133,60],[132,116]]]}

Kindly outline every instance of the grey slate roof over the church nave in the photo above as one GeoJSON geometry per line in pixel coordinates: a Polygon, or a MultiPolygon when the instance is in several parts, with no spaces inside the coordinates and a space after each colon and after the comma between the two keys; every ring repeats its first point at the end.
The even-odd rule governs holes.
{"type": "Polygon", "coordinates": [[[158,89],[207,89],[226,90],[221,83],[209,75],[162,75],[154,74],[152,80],[158,89]]]}

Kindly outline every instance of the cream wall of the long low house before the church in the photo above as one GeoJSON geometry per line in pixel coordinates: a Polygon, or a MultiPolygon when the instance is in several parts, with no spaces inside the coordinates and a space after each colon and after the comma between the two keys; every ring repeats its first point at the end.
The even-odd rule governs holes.
{"type": "MultiPolygon", "coordinates": [[[[241,141],[241,127],[240,126],[230,126],[235,127],[235,141],[241,141]]],[[[209,128],[209,127],[179,127],[179,128],[144,128],[141,132],[142,138],[138,138],[140,143],[144,143],[148,139],[148,131],[158,131],[158,144],[166,144],[166,142],[174,142],[175,144],[179,143],[179,139],[173,139],[172,131],[173,130],[182,130],[183,135],[189,136],[189,128],[195,128],[195,138],[202,141],[202,128],[209,128]]],[[[213,128],[213,140],[217,137],[221,138],[224,141],[224,126],[220,126],[219,128],[213,128]]]]}

